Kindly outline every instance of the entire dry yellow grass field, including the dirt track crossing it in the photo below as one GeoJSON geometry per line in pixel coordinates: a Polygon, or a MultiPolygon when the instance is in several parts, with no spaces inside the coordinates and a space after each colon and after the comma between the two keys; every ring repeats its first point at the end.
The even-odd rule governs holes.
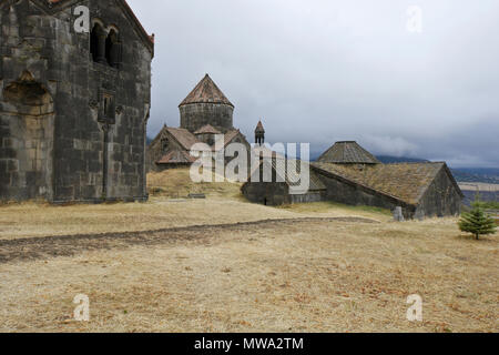
{"type": "Polygon", "coordinates": [[[162,191],[145,204],[1,206],[0,332],[499,331],[497,234],[253,205],[228,184],[174,196],[167,174],[186,172],[151,179],[162,191]],[[77,294],[88,323],[72,317],[77,294]],[[422,323],[406,318],[411,294],[422,323]]]}

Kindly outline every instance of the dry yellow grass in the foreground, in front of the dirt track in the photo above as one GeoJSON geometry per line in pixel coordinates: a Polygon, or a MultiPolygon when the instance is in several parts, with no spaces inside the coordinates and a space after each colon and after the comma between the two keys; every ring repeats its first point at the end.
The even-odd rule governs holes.
{"type": "Polygon", "coordinates": [[[206,227],[0,272],[3,332],[499,331],[497,236],[475,242],[452,219],[206,227]],[[72,321],[80,293],[89,323],[72,321]]]}

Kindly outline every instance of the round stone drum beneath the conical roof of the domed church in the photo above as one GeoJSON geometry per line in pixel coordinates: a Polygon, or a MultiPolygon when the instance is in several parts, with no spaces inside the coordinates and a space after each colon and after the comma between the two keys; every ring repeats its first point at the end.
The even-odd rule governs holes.
{"type": "Polygon", "coordinates": [[[191,103],[181,105],[181,128],[195,132],[206,124],[222,133],[233,129],[234,108],[218,103],[191,103]]]}

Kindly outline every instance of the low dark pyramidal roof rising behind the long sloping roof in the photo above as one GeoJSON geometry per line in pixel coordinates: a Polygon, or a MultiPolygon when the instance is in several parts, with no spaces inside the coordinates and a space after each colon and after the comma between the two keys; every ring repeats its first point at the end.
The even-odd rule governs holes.
{"type": "Polygon", "coordinates": [[[379,164],[380,161],[357,142],[336,142],[318,159],[320,163],[379,164]]]}

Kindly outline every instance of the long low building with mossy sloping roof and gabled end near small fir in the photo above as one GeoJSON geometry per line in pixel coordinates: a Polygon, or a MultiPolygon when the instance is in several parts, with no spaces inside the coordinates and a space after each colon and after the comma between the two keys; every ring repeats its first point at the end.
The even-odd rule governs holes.
{"type": "Polygon", "coordinates": [[[404,219],[459,215],[462,192],[445,163],[378,164],[357,170],[313,164],[327,187],[326,199],[348,205],[401,207],[404,219]]]}

